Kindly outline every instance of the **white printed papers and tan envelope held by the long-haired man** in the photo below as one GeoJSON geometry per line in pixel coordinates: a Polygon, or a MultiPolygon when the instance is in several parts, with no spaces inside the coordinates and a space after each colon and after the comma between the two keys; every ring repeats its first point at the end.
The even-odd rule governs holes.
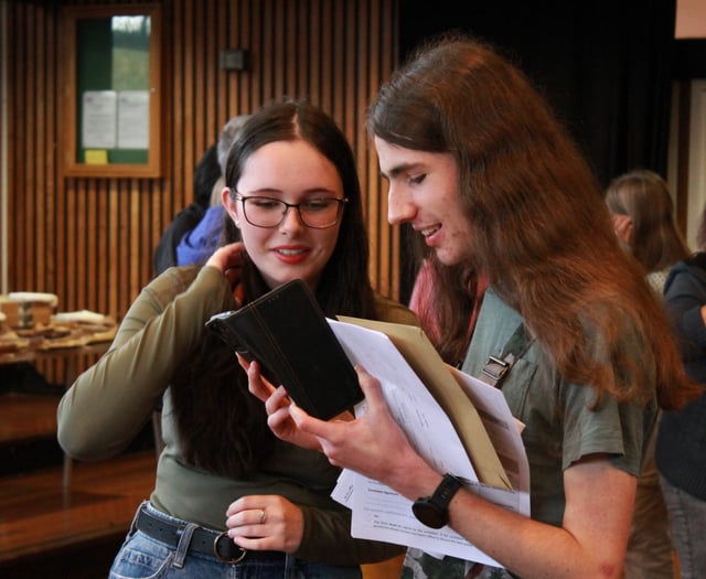
{"type": "MultiPolygon", "coordinates": [[[[416,346],[422,350],[427,347],[428,337],[424,332],[416,326],[404,324],[371,323],[367,320],[350,318],[341,320],[343,321],[329,320],[329,323],[351,362],[354,365],[361,364],[379,380],[393,417],[425,460],[438,472],[450,472],[461,479],[469,491],[504,508],[528,516],[530,468],[520,436],[521,426],[510,412],[502,392],[443,364],[440,358],[425,356],[429,360],[415,360],[417,366],[425,363],[441,364],[454,378],[453,386],[445,383],[442,387],[456,389],[457,394],[458,390],[463,392],[478,411],[509,482],[505,484],[505,478],[500,478],[494,479],[495,484],[491,485],[479,480],[467,452],[468,444],[461,441],[447,411],[420,379],[421,373],[415,372],[407,362],[410,350],[414,351],[416,346]],[[396,336],[396,345],[385,331],[371,329],[377,326],[387,331],[394,330],[392,333],[399,330],[391,329],[391,325],[409,328],[414,332],[402,332],[396,336]],[[406,343],[402,346],[400,339],[422,343],[406,343]],[[407,358],[400,350],[405,350],[407,358]]],[[[365,401],[356,407],[356,414],[364,411],[365,401]]],[[[493,464],[492,460],[490,462],[493,464]]],[[[344,470],[332,496],[351,508],[351,533],[356,538],[384,540],[417,547],[436,556],[451,555],[500,567],[498,561],[450,527],[432,529],[419,523],[411,513],[410,501],[366,476],[344,470]]]]}

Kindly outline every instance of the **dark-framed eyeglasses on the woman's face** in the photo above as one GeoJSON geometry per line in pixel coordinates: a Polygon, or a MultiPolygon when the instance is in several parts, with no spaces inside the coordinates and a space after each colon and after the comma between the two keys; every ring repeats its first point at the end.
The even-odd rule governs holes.
{"type": "Polygon", "coordinates": [[[315,197],[301,203],[286,203],[278,199],[259,197],[236,194],[236,201],[243,203],[245,219],[255,227],[277,227],[280,225],[290,207],[296,207],[299,218],[312,229],[333,227],[341,218],[343,205],[347,199],[315,197]]]}

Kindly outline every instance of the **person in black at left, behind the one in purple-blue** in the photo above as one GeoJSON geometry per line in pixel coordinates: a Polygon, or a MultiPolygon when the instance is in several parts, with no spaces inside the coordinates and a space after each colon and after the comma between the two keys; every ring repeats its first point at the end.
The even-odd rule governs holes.
{"type": "Polygon", "coordinates": [[[220,176],[217,146],[212,144],[203,153],[194,171],[194,201],[176,214],[154,249],[152,268],[156,276],[176,265],[176,246],[203,218],[220,176]]]}

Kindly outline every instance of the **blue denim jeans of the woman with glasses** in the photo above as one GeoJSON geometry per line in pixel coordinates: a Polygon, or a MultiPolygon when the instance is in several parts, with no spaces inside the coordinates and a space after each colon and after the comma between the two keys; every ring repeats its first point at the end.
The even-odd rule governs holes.
{"type": "MultiPolygon", "coordinates": [[[[174,548],[137,529],[135,522],[110,568],[109,579],[361,579],[359,566],[322,565],[287,556],[282,559],[250,560],[247,555],[235,565],[215,556],[190,551],[191,533],[196,527],[147,505],[150,513],[186,526],[174,548]]],[[[139,512],[139,510],[138,510],[139,512]]],[[[137,515],[136,515],[137,521],[137,515]]]]}

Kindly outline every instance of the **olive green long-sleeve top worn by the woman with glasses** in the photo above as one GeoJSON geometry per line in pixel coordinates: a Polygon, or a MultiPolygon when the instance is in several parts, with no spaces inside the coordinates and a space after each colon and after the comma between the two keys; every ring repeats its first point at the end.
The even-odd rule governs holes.
{"type": "MultiPolygon", "coordinates": [[[[404,305],[376,296],[377,318],[417,325],[404,305]]],[[[403,547],[351,537],[350,511],[330,497],[340,470],[319,452],[277,440],[250,480],[214,475],[182,458],[172,416],[169,382],[178,363],[202,340],[205,322],[232,310],[225,277],[213,267],[171,268],[150,282],[128,310],[108,352],[63,396],[58,441],[78,460],[100,460],[126,449],[162,397],[162,437],[151,503],[160,511],[213,529],[225,529],[225,512],[236,498],[278,494],[303,513],[297,557],[332,565],[374,562],[403,547]]],[[[227,452],[228,449],[223,449],[227,452]]]]}

